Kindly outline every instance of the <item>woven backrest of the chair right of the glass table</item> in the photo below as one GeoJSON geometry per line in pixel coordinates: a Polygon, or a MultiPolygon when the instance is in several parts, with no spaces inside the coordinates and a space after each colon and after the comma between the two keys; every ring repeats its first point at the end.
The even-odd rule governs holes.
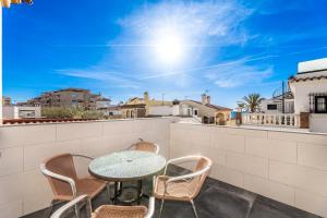
{"type": "Polygon", "coordinates": [[[194,172],[198,172],[203,170],[203,173],[195,179],[194,192],[192,194],[192,198],[196,197],[199,193],[204,181],[206,180],[207,175],[210,173],[210,169],[213,167],[213,161],[204,156],[199,156],[194,168],[194,172]]]}

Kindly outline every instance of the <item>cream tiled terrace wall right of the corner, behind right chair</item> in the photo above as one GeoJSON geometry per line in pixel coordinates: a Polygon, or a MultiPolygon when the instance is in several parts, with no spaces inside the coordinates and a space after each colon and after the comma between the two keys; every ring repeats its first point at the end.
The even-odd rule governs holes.
{"type": "Polygon", "coordinates": [[[327,217],[327,134],[171,123],[171,158],[198,154],[214,179],[327,217]]]}

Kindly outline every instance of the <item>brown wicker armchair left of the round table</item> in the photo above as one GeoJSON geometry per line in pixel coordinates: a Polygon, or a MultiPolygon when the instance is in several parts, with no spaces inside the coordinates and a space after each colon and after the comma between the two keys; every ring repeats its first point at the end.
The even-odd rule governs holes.
{"type": "MultiPolygon", "coordinates": [[[[109,184],[92,177],[77,178],[73,157],[93,159],[84,155],[62,154],[45,160],[40,165],[41,173],[48,179],[53,192],[49,215],[56,202],[72,201],[86,194],[90,199],[97,196],[106,186],[110,198],[109,184]]],[[[78,217],[78,211],[76,210],[78,217]]]]}

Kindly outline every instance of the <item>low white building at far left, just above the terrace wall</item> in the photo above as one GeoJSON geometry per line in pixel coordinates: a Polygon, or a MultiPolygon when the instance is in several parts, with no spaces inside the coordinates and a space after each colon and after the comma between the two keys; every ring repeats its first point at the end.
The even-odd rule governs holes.
{"type": "Polygon", "coordinates": [[[3,119],[37,119],[41,118],[40,107],[3,106],[3,119]]]}

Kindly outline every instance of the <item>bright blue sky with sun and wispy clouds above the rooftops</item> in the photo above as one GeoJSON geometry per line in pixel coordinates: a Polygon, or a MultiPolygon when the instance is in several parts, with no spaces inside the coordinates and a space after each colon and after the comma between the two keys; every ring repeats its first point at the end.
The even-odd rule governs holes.
{"type": "Polygon", "coordinates": [[[235,106],[327,57],[327,0],[41,1],[3,10],[3,94],[89,88],[235,106]]]}

